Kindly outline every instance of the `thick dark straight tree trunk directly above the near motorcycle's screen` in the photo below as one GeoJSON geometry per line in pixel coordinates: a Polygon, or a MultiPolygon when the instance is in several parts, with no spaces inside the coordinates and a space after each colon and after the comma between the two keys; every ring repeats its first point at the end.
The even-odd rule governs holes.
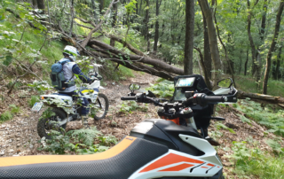
{"type": "Polygon", "coordinates": [[[185,74],[193,74],[194,1],[185,1],[185,74]]]}

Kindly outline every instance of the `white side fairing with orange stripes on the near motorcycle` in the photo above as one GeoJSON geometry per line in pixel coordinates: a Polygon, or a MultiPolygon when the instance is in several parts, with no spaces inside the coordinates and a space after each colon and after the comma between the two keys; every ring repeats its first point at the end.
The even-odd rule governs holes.
{"type": "Polygon", "coordinates": [[[163,176],[210,177],[222,170],[222,163],[217,159],[216,151],[209,142],[193,136],[179,135],[179,137],[205,154],[193,156],[170,149],[158,159],[140,167],[129,179],[150,179],[163,176]]]}

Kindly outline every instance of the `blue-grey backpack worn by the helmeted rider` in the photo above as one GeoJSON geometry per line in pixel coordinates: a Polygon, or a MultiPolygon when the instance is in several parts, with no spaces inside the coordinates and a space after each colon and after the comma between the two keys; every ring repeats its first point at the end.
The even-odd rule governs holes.
{"type": "Polygon", "coordinates": [[[75,85],[75,82],[67,82],[67,79],[65,79],[63,66],[67,62],[70,62],[70,60],[66,59],[59,61],[51,66],[51,83],[56,90],[66,90],[67,88],[75,85]]]}

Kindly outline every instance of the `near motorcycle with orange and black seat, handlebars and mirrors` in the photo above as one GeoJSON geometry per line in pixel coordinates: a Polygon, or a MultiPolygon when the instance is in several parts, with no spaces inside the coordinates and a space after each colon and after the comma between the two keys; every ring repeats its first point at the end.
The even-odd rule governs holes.
{"type": "Polygon", "coordinates": [[[0,178],[224,179],[217,152],[205,139],[204,131],[200,134],[196,129],[204,129],[205,125],[195,121],[206,121],[207,114],[193,117],[194,112],[208,110],[208,105],[235,103],[238,91],[231,79],[218,82],[222,88],[214,92],[206,88],[201,75],[177,76],[174,80],[176,90],[170,101],[161,102],[151,91],[135,93],[138,85],[130,85],[128,97],[122,100],[158,105],[161,116],[185,119],[187,126],[146,120],[106,152],[0,158],[0,178]]]}

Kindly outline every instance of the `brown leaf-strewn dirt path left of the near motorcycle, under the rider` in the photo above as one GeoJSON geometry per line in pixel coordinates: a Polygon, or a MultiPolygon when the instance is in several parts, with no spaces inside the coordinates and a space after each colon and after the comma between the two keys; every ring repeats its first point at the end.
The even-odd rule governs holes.
{"type": "MultiPolygon", "coordinates": [[[[128,87],[131,82],[140,83],[142,89],[150,86],[149,83],[154,83],[156,80],[156,76],[136,73],[135,77],[129,78],[126,81],[106,82],[106,90],[101,90],[101,92],[106,94],[106,97],[109,99],[109,113],[106,115],[105,120],[94,121],[89,119],[90,125],[96,125],[104,134],[114,135],[118,139],[129,134],[130,129],[135,126],[135,123],[144,120],[145,115],[143,116],[139,112],[133,112],[128,115],[121,116],[117,115],[116,113],[119,111],[120,105],[122,104],[120,98],[122,96],[126,96],[127,93],[130,92],[128,87]]],[[[15,101],[15,98],[22,100],[22,104],[20,105],[23,105],[23,113],[14,116],[12,121],[6,121],[0,124],[0,157],[36,155],[44,153],[37,151],[40,137],[37,135],[36,123],[41,116],[41,113],[31,112],[30,108],[27,106],[28,99],[20,98],[20,94],[15,94],[13,97],[7,97],[6,103],[19,103],[18,99],[15,101]]],[[[3,111],[4,107],[5,106],[3,105],[3,111]]],[[[154,110],[152,110],[151,113],[154,113],[154,110]]],[[[149,114],[149,116],[151,115],[152,114],[149,114]]],[[[81,121],[69,122],[67,129],[68,128],[81,128],[81,121]]]]}

